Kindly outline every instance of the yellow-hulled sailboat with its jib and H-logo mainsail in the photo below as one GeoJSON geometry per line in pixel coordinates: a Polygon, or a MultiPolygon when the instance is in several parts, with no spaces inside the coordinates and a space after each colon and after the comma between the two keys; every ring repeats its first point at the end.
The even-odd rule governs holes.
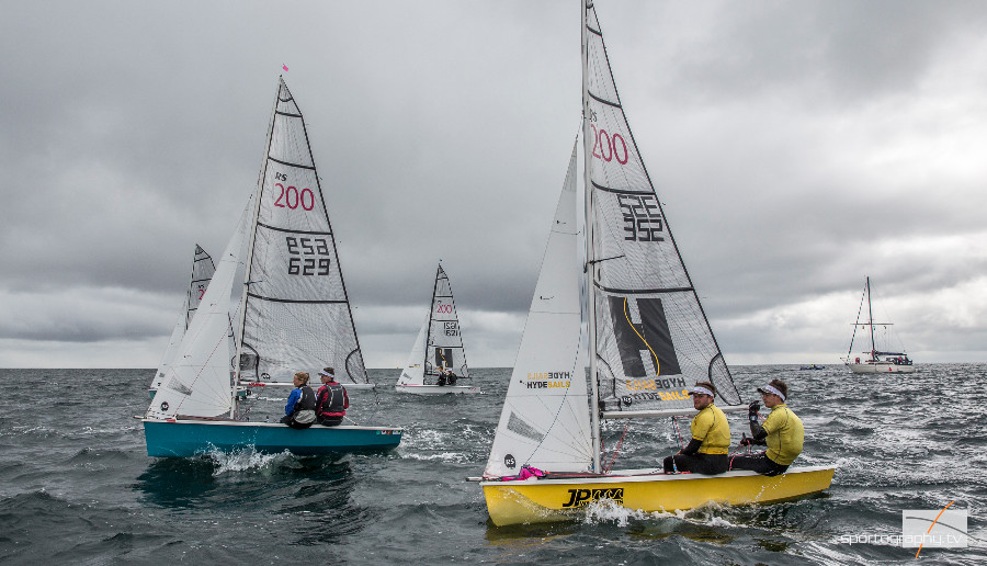
{"type": "Polygon", "coordinates": [[[582,10],[582,190],[574,151],[490,456],[483,478],[475,478],[491,520],[560,520],[603,499],[653,512],[826,489],[831,466],[790,468],[775,477],[665,475],[658,454],[657,469],[602,466],[601,420],[695,415],[688,389],[699,381],[716,386],[724,411],[747,407],[631,134],[595,10],[589,0],[582,10]],[[582,230],[576,226],[578,201],[582,230]],[[583,318],[588,388],[580,359],[583,318]],[[525,478],[530,467],[547,475],[525,478]]]}

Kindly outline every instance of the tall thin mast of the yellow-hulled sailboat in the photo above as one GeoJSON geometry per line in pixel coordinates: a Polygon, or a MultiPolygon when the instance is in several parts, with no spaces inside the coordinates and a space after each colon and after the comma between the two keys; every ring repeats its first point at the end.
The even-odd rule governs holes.
{"type": "MultiPolygon", "coordinates": [[[[600,443],[600,387],[599,380],[597,377],[597,298],[594,292],[595,278],[593,276],[593,269],[595,268],[595,250],[593,249],[593,193],[590,190],[590,186],[592,186],[592,184],[590,181],[590,165],[588,157],[592,151],[592,148],[590,146],[590,138],[592,136],[589,132],[590,116],[588,114],[589,106],[587,105],[586,101],[586,93],[589,89],[589,45],[586,37],[586,18],[590,7],[592,5],[589,2],[590,0],[583,0],[581,2],[582,30],[580,33],[580,41],[582,44],[582,191],[586,197],[586,222],[583,223],[583,235],[586,237],[586,264],[582,267],[582,271],[583,273],[586,273],[590,390],[592,392],[592,395],[590,397],[590,432],[592,434],[593,472],[599,473],[603,468],[600,465],[600,452],[602,450],[600,443]]],[[[577,367],[577,371],[582,371],[582,369],[577,367]]]]}

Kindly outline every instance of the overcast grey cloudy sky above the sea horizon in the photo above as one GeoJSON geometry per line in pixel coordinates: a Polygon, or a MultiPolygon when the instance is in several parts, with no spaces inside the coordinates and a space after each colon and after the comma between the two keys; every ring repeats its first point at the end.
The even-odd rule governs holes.
{"type": "MultiPolygon", "coordinates": [[[[867,275],[915,360],[985,361],[987,3],[595,5],[728,363],[837,363],[867,275]]],[[[469,362],[513,364],[579,127],[578,0],[2,12],[0,366],[157,366],[280,73],[367,365],[405,363],[440,258],[469,362]]]]}

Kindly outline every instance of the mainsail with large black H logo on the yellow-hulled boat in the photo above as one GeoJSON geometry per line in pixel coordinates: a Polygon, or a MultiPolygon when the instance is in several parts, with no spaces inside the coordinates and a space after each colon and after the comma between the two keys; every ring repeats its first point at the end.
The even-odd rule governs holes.
{"type": "Polygon", "coordinates": [[[676,247],[621,105],[603,35],[586,7],[585,148],[595,371],[606,411],[692,410],[712,381],[740,396],[676,247]]]}

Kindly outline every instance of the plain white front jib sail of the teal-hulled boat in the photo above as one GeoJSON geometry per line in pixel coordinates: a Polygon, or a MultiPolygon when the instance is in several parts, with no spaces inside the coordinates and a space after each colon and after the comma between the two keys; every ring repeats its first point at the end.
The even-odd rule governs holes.
{"type": "Polygon", "coordinates": [[[230,410],[230,292],[240,264],[252,204],[251,197],[162,384],[147,408],[146,418],[222,417],[230,410]]]}

